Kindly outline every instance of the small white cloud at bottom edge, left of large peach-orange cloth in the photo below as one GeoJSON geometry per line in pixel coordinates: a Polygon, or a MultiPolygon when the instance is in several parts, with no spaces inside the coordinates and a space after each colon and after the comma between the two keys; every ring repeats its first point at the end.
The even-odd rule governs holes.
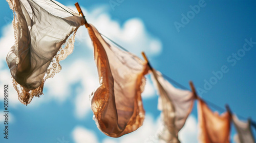
{"type": "Polygon", "coordinates": [[[97,143],[98,142],[97,136],[93,131],[80,126],[75,127],[75,129],[72,131],[72,137],[76,143],[84,143],[84,142],[97,143]]]}

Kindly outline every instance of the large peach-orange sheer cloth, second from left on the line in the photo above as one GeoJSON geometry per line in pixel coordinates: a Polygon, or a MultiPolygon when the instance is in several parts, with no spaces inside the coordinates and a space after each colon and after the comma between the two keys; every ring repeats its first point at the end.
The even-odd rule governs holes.
{"type": "Polygon", "coordinates": [[[143,123],[141,92],[148,67],[137,56],[107,43],[94,26],[88,32],[100,82],[90,97],[94,120],[106,135],[120,137],[143,123]]]}

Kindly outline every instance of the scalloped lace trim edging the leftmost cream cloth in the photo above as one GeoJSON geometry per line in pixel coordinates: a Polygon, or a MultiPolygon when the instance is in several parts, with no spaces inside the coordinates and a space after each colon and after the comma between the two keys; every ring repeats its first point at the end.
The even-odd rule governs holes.
{"type": "MultiPolygon", "coordinates": [[[[18,36],[22,34],[22,31],[19,31],[18,29],[21,29],[21,27],[18,25],[18,12],[16,8],[16,3],[14,0],[6,0],[9,4],[10,9],[13,11],[13,21],[12,25],[14,28],[14,36],[15,36],[15,51],[17,52],[18,47],[18,36]]],[[[46,75],[44,76],[44,79],[42,80],[42,83],[39,87],[36,89],[26,91],[21,85],[19,85],[15,79],[12,80],[13,87],[18,93],[18,100],[23,103],[24,105],[28,105],[33,97],[40,97],[44,93],[42,93],[42,90],[44,88],[44,84],[48,78],[52,78],[55,76],[55,74],[59,73],[61,70],[61,65],[59,64],[59,61],[66,59],[70,54],[72,54],[74,50],[74,43],[75,43],[75,35],[76,35],[77,29],[74,31],[73,35],[66,40],[65,43],[63,43],[56,55],[52,58],[48,69],[46,71],[46,75]],[[68,42],[67,42],[68,41],[68,42]],[[65,47],[63,47],[65,45],[65,47]]],[[[16,53],[18,55],[18,53],[16,53]]],[[[18,64],[19,59],[17,58],[16,64],[18,64]]]]}

